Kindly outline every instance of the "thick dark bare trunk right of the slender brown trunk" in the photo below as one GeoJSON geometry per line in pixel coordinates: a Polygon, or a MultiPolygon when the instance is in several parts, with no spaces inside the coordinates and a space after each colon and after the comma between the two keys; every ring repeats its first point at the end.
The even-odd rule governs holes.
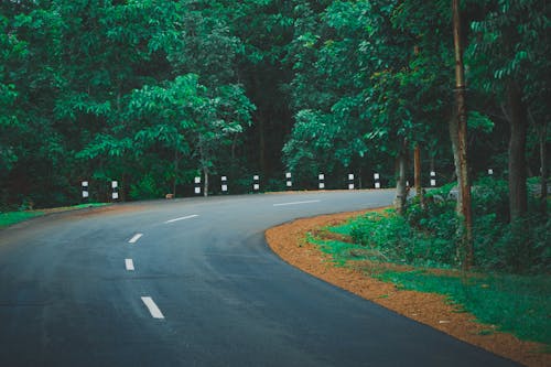
{"type": "Polygon", "coordinates": [[[528,130],[527,109],[522,102],[522,93],[516,82],[507,86],[509,105],[509,212],[510,219],[522,217],[528,208],[526,185],[526,134],[528,130]]]}

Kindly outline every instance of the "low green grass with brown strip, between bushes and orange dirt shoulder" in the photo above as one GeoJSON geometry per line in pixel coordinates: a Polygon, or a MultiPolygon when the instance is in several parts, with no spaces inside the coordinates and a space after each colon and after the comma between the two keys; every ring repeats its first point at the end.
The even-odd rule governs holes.
{"type": "Polygon", "coordinates": [[[548,274],[465,274],[450,268],[389,267],[391,261],[377,249],[354,244],[352,237],[346,239],[356,220],[359,219],[309,234],[307,241],[331,255],[336,266],[359,266],[367,276],[399,289],[446,295],[451,303],[487,324],[487,334],[509,332],[521,339],[543,343],[551,349],[551,277],[548,274]],[[331,234],[344,236],[344,240],[335,240],[331,234]]]}

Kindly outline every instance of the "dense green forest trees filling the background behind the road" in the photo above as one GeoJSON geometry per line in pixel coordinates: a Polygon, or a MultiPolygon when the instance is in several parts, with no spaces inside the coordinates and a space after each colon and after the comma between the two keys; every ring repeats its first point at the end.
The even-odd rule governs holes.
{"type": "MultiPolygon", "coordinates": [[[[529,176],[547,197],[545,0],[460,2],[468,175],[529,176]]],[[[0,3],[0,204],[383,186],[457,177],[452,1],[6,0],[0,3]],[[456,152],[455,152],[456,153],[456,152]],[[400,177],[398,177],[400,179],[400,177]]],[[[463,87],[463,86],[462,86],[463,87]]]]}

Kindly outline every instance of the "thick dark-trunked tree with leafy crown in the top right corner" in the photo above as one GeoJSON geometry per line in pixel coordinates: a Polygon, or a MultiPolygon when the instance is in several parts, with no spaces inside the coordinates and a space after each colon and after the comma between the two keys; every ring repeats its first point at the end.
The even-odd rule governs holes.
{"type": "Polygon", "coordinates": [[[528,110],[538,109],[534,123],[540,126],[549,116],[549,108],[539,106],[549,97],[549,85],[537,82],[547,80],[550,66],[550,46],[544,42],[549,37],[549,7],[540,0],[499,0],[487,7],[485,17],[472,24],[477,37],[469,50],[469,65],[477,76],[474,82],[486,93],[496,94],[509,122],[509,212],[515,222],[528,207],[528,110]]]}

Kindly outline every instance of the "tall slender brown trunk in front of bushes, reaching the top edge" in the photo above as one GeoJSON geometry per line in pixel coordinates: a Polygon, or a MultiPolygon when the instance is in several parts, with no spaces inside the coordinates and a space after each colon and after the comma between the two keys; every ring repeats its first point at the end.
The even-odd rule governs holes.
{"type": "Polygon", "coordinates": [[[455,101],[457,108],[457,155],[458,170],[457,188],[462,218],[462,255],[463,268],[468,270],[473,266],[473,218],[471,213],[471,183],[468,180],[467,163],[467,108],[465,102],[465,69],[463,66],[463,44],[460,18],[460,0],[452,0],[453,40],[455,48],[455,101]],[[461,202],[460,202],[461,198],[461,202]],[[461,203],[461,204],[460,204],[461,203]]]}

